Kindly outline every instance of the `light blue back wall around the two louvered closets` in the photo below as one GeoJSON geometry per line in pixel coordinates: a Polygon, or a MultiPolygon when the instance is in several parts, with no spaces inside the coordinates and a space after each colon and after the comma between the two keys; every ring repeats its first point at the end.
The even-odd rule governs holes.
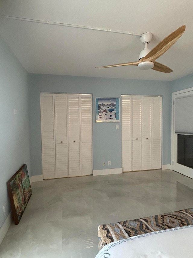
{"type": "MultiPolygon", "coordinates": [[[[121,94],[163,96],[162,164],[170,164],[171,101],[169,82],[95,77],[29,74],[30,154],[33,175],[42,174],[40,92],[92,93],[95,97],[119,97],[121,94]]],[[[121,123],[95,123],[93,104],[93,169],[121,168],[121,123]],[[103,166],[111,160],[111,167],[103,166]]]]}

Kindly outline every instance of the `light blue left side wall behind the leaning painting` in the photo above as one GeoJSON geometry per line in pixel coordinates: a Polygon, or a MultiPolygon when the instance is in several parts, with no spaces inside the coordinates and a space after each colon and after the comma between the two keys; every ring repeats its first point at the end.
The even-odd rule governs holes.
{"type": "Polygon", "coordinates": [[[30,174],[27,72],[0,38],[0,227],[10,212],[6,182],[24,164],[30,174]],[[14,109],[18,114],[14,115],[14,109]],[[3,215],[3,205],[8,209],[3,215]]]}

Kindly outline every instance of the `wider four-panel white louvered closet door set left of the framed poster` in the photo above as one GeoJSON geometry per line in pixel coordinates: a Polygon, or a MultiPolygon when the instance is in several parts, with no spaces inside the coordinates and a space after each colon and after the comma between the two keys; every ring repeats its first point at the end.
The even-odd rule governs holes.
{"type": "Polygon", "coordinates": [[[41,93],[43,178],[92,174],[92,95],[41,93]]]}

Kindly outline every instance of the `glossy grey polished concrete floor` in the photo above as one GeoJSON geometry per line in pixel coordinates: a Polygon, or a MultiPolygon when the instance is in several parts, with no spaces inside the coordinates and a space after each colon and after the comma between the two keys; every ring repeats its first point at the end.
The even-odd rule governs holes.
{"type": "Polygon", "coordinates": [[[99,224],[193,207],[193,179],[171,170],[45,180],[32,191],[1,258],[94,258],[99,224]]]}

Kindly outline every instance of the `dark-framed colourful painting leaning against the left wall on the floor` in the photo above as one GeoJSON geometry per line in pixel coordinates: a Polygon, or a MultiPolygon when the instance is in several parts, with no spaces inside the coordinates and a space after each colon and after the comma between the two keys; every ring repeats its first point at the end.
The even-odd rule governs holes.
{"type": "Polygon", "coordinates": [[[7,181],[7,189],[11,202],[12,217],[15,225],[17,225],[32,195],[26,164],[7,181]]]}

